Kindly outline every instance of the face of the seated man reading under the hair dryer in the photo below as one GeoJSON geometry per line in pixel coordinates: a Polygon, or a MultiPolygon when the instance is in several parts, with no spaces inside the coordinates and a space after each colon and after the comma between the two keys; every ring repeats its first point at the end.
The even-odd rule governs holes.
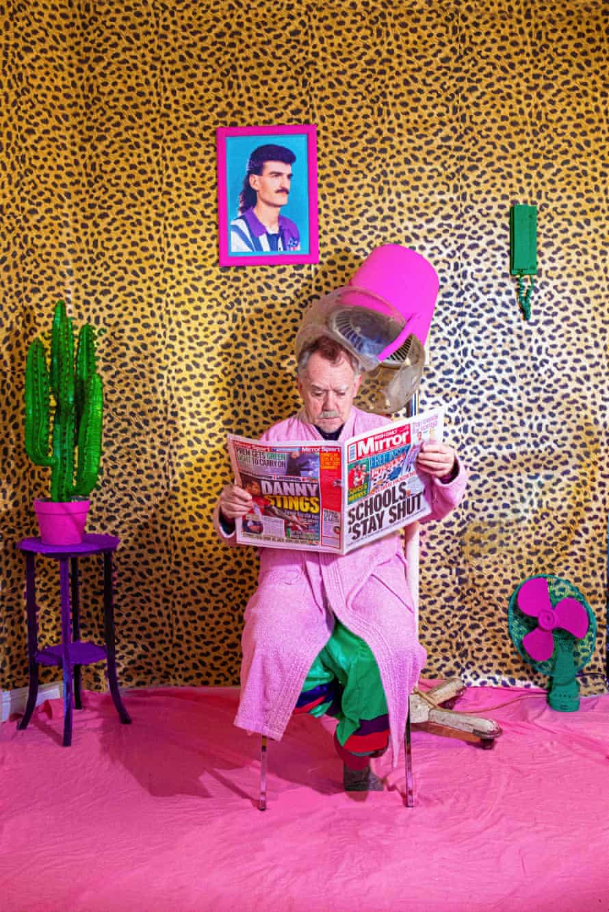
{"type": "Polygon", "coordinates": [[[338,430],[349,417],[361,380],[347,358],[332,364],[314,352],[298,377],[308,420],[322,430],[338,430]]]}

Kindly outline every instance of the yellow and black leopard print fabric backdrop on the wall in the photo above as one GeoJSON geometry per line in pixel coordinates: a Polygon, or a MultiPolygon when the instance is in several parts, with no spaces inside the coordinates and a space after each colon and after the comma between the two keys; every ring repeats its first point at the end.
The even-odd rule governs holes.
{"type": "MultiPolygon", "coordinates": [[[[603,687],[607,23],[602,0],[14,0],[0,5],[2,658],[26,684],[24,564],[46,493],[23,441],[26,347],[58,298],[103,328],[103,472],[88,528],[116,561],[124,686],[235,684],[257,555],[212,532],[225,436],[294,410],[294,334],[378,244],[440,276],[423,406],[470,470],[421,542],[428,677],[544,685],[512,647],[529,575],[580,588],[603,687]],[[215,130],[315,124],[319,264],[218,265],[215,130]],[[512,203],[538,206],[525,321],[512,203]]],[[[41,642],[57,567],[39,562],[41,642]]],[[[101,636],[94,558],[85,638],[101,636]]],[[[289,606],[286,606],[289,610],[289,606]]],[[[57,673],[46,671],[46,680],[57,673]]],[[[88,668],[85,683],[104,687],[88,668]]]]}

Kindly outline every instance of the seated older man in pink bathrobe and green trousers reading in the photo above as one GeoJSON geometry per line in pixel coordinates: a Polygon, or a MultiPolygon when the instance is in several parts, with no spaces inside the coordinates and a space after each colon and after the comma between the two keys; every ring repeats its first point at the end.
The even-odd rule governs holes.
{"type": "MultiPolygon", "coordinates": [[[[354,356],[334,339],[317,338],[298,359],[304,409],[262,440],[344,440],[388,421],[353,405],[361,382],[354,356]]],[[[427,443],[417,468],[441,519],[465,489],[455,451],[427,443]]],[[[234,544],[234,520],[251,495],[224,487],[214,523],[234,544]]],[[[281,739],[294,711],[335,716],[335,749],[347,790],[380,789],[371,756],[390,742],[394,765],[406,727],[408,696],[425,663],[418,644],[408,566],[399,534],[345,555],[261,549],[259,585],[245,611],[242,689],[235,724],[281,739]]]]}

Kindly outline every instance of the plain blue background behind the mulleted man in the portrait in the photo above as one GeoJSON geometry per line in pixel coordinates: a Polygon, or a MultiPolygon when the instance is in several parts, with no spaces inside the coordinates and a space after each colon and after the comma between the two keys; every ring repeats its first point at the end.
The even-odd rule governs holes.
{"type": "MultiPolygon", "coordinates": [[[[226,210],[227,221],[231,222],[239,214],[239,194],[243,187],[243,178],[247,170],[247,161],[250,153],[258,146],[273,143],[275,146],[285,146],[296,156],[292,165],[292,188],[286,205],[282,206],[281,214],[287,215],[296,223],[300,233],[299,254],[309,253],[309,161],[308,137],[298,133],[258,133],[256,136],[227,136],[226,137],[226,210]]],[[[229,234],[228,250],[231,250],[229,225],[226,225],[229,234]]],[[[281,252],[285,255],[284,252],[281,252]]],[[[260,254],[236,254],[239,256],[260,256],[260,254]]],[[[268,253],[265,254],[268,256],[268,253]]]]}

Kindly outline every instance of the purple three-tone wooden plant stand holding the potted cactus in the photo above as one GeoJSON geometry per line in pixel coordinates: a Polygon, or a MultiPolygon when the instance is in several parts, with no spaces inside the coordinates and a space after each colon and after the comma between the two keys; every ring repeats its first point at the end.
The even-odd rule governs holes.
{"type": "Polygon", "coordinates": [[[114,646],[114,593],[112,587],[112,554],[119,546],[120,539],[114,535],[86,534],[82,544],[57,546],[42,544],[39,538],[24,538],[17,544],[26,554],[26,609],[27,609],[27,657],[29,688],[26,712],[17,725],[25,729],[32,718],[38,695],[38,665],[57,665],[64,677],[64,747],[72,743],[72,709],[82,709],[80,690],[80,669],[92,662],[105,661],[108,669],[108,685],[120,721],[129,725],[131,719],[119,693],[119,681],[114,646]],[[51,557],[59,562],[59,585],[61,590],[61,643],[38,649],[38,624],[36,605],[36,554],[51,557]],[[80,640],[80,602],[78,591],[78,558],[84,554],[104,556],[104,636],[105,646],[83,643],[80,640]],[[71,574],[70,574],[71,564],[71,574]],[[71,598],[70,598],[71,596],[71,598]],[[70,605],[71,602],[71,605],[70,605]],[[71,630],[70,630],[71,615],[71,630]]]}

